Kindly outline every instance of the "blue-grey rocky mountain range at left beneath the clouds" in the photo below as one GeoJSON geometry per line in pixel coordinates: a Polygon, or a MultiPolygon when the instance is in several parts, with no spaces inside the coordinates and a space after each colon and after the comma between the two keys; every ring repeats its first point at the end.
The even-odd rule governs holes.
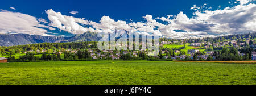
{"type": "Polygon", "coordinates": [[[100,37],[94,32],[85,32],[84,34],[72,37],[61,36],[40,36],[28,34],[0,34],[0,46],[14,46],[35,43],[64,43],[77,41],[98,41],[100,37]]]}

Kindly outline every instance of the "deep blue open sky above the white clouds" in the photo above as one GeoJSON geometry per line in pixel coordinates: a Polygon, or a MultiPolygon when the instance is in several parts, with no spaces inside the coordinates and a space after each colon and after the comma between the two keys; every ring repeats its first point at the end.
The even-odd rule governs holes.
{"type": "Polygon", "coordinates": [[[15,11],[47,19],[44,10],[53,9],[64,15],[70,15],[70,11],[79,11],[76,18],[86,18],[98,22],[104,15],[115,20],[138,20],[141,21],[147,14],[152,16],[166,16],[179,14],[183,11],[191,18],[193,5],[204,5],[204,3],[217,9],[219,5],[228,6],[228,0],[4,0],[1,1],[0,9],[10,10],[10,6],[15,7],[15,11]]]}

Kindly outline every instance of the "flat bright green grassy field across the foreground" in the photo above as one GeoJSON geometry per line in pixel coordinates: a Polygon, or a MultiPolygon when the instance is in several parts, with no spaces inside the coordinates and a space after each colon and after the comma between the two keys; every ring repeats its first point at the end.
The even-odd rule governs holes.
{"type": "Polygon", "coordinates": [[[0,85],[255,85],[255,70],[255,64],[210,62],[16,62],[0,64],[0,85]]]}

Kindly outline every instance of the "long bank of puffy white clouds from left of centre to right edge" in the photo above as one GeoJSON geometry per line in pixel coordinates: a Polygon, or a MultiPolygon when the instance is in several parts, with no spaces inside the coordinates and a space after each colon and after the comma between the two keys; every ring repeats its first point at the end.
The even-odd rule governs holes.
{"type": "Polygon", "coordinates": [[[177,15],[158,17],[168,24],[159,23],[153,19],[152,15],[143,16],[146,22],[127,23],[122,20],[114,20],[109,16],[102,16],[100,23],[75,18],[73,16],[62,15],[60,12],[47,10],[49,23],[52,27],[70,32],[72,34],[82,34],[87,31],[110,32],[110,30],[126,30],[148,34],[152,32],[159,36],[184,39],[190,37],[213,37],[227,34],[239,34],[243,32],[256,31],[256,5],[249,3],[249,0],[239,0],[240,4],[224,9],[208,10],[207,4],[197,7],[194,5],[191,10],[195,10],[193,18],[188,18],[184,12],[177,15]]]}

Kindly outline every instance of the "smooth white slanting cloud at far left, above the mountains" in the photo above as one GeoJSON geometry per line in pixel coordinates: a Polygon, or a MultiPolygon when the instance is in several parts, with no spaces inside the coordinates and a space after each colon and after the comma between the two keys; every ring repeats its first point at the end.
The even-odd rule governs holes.
{"type": "Polygon", "coordinates": [[[7,10],[0,11],[0,33],[6,34],[10,32],[23,33],[31,35],[49,36],[47,30],[43,28],[51,28],[40,24],[34,16],[22,14],[19,12],[11,12],[7,10]]]}

